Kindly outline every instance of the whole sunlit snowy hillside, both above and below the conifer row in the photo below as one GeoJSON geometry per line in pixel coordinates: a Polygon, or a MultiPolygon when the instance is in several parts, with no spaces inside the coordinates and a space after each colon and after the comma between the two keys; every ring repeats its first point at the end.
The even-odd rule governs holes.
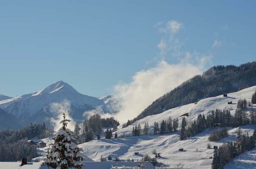
{"type": "MultiPolygon", "coordinates": [[[[231,113],[233,114],[237,106],[237,101],[240,98],[245,98],[250,101],[255,90],[256,86],[253,86],[236,93],[229,93],[228,97],[220,95],[206,98],[200,100],[198,104],[188,104],[167,110],[161,114],[145,117],[126,128],[121,128],[120,125],[117,131],[118,136],[124,136],[125,138],[93,140],[80,144],[79,147],[83,149],[85,155],[92,158],[94,161],[99,161],[101,155],[103,155],[103,157],[110,155],[112,157],[119,157],[120,159],[134,158],[135,160],[140,160],[145,154],[153,157],[154,155],[151,152],[156,149],[162,156],[158,161],[168,164],[169,166],[174,166],[178,162],[182,162],[185,164],[186,168],[210,169],[212,162],[210,157],[213,156],[213,149],[207,149],[207,144],[210,143],[213,147],[214,145],[219,146],[227,141],[235,141],[237,139],[236,134],[238,128],[228,128],[228,137],[219,142],[209,142],[208,137],[212,131],[208,129],[192,138],[180,141],[178,132],[166,135],[131,136],[133,126],[140,124],[143,128],[144,124],[148,122],[152,134],[153,123],[155,121],[160,123],[162,120],[167,120],[169,117],[176,118],[187,112],[189,113],[189,117],[187,117],[188,121],[196,120],[198,114],[207,115],[214,109],[231,109],[231,113]],[[228,104],[229,101],[232,101],[233,104],[228,104]],[[181,147],[184,148],[184,152],[178,151],[181,147]],[[134,155],[135,152],[139,152],[139,155],[134,155]]],[[[253,109],[255,108],[256,106],[253,106],[253,109]]],[[[240,126],[240,128],[242,133],[248,132],[249,135],[252,135],[256,125],[245,125],[240,126]]]]}

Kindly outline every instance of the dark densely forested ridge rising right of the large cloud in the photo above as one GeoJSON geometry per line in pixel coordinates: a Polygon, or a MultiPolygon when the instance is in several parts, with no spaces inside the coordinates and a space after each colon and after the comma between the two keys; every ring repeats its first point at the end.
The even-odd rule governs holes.
{"type": "Polygon", "coordinates": [[[256,85],[256,62],[214,66],[154,101],[132,122],[165,110],[256,85]]]}

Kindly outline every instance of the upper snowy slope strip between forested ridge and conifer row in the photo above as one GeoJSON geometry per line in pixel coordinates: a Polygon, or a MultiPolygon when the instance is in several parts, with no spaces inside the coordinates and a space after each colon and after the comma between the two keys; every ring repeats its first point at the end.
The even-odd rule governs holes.
{"type": "MultiPolygon", "coordinates": [[[[244,90],[240,90],[239,92],[229,93],[228,97],[223,97],[223,95],[219,95],[216,97],[205,98],[198,101],[197,104],[187,104],[184,106],[176,107],[170,110],[167,110],[161,114],[155,114],[151,116],[147,116],[141,120],[136,121],[134,124],[129,125],[126,128],[122,128],[120,125],[118,128],[122,128],[118,131],[119,135],[131,136],[132,128],[135,125],[141,125],[142,127],[146,122],[149,123],[150,131],[153,133],[153,124],[154,122],[161,123],[162,120],[167,120],[169,117],[177,118],[184,113],[189,113],[189,117],[187,120],[194,121],[197,119],[198,114],[209,114],[212,110],[215,109],[231,109],[231,114],[233,114],[237,108],[237,101],[241,99],[251,100],[252,94],[255,92],[256,86],[249,87],[244,90]],[[233,104],[228,104],[229,101],[232,101],[233,104]]],[[[255,106],[254,106],[255,107],[255,106]]],[[[180,117],[181,118],[181,117],[180,117]]]]}

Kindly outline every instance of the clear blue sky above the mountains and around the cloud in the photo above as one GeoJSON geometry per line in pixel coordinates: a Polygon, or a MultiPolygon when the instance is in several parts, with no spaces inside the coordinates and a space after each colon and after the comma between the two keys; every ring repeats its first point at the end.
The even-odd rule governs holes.
{"type": "MultiPolygon", "coordinates": [[[[159,25],[180,24],[183,51],[209,64],[256,60],[256,1],[6,0],[0,2],[0,94],[22,95],[63,80],[103,96],[165,60],[159,25]]],[[[172,55],[172,56],[171,56],[172,55]]]]}

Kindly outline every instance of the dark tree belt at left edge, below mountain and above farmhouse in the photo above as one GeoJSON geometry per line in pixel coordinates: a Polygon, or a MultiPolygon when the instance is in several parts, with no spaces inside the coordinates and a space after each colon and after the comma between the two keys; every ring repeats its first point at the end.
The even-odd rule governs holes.
{"type": "Polygon", "coordinates": [[[43,139],[53,134],[53,129],[48,128],[45,123],[28,125],[19,130],[4,130],[0,131],[0,142],[4,144],[15,143],[21,139],[32,139],[38,137],[43,139]]]}

